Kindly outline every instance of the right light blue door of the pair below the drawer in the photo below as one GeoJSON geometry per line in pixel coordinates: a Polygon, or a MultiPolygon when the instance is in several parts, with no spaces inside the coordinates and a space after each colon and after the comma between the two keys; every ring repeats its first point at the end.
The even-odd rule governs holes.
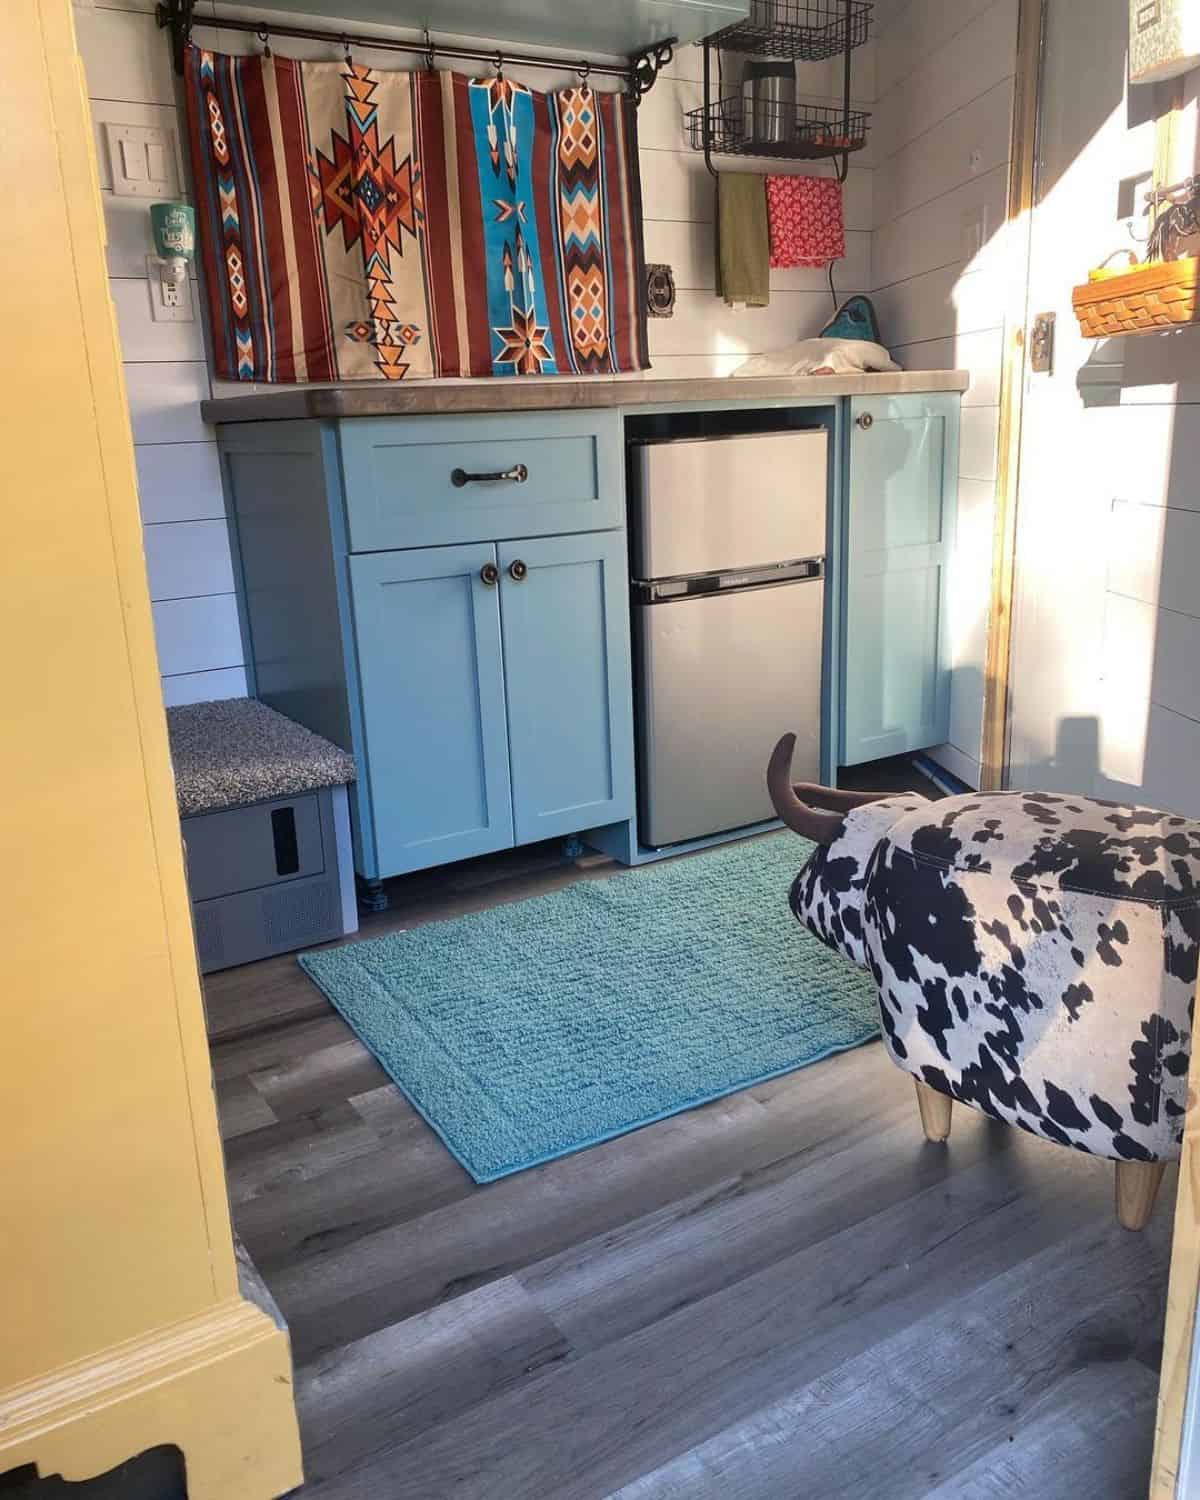
{"type": "Polygon", "coordinates": [[[516,842],[630,818],[624,532],[506,542],[498,555],[516,842]]]}

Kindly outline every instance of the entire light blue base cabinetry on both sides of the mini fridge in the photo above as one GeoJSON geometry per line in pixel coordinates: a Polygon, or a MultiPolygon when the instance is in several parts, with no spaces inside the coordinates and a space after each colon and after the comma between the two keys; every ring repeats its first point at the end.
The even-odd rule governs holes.
{"type": "MultiPolygon", "coordinates": [[[[824,406],[834,436],[832,776],[950,735],[958,396],[798,405],[824,406]]],[[[354,753],[356,868],[376,897],[393,874],[567,834],[651,856],[624,422],[584,408],[222,423],[252,690],[354,753]]]]}

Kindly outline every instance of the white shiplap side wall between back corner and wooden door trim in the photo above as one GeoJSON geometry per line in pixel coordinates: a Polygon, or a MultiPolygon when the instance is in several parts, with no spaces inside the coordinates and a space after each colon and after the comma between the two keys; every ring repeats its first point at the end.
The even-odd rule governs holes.
{"type": "Polygon", "coordinates": [[[891,0],[876,39],[872,285],[908,369],[968,369],[951,594],[951,742],[978,786],[1004,346],[1017,0],[891,0]],[[976,242],[976,232],[982,242],[976,242]]]}

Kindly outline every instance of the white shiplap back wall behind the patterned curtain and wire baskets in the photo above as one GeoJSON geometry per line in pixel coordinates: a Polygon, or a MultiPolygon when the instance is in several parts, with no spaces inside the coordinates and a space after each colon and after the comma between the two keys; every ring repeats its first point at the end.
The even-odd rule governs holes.
{"type": "MultiPolygon", "coordinates": [[[[201,0],[198,15],[206,9],[201,0]]],[[[96,0],[78,6],[75,22],[98,124],[111,290],[126,360],[164,694],[168,704],[180,704],[246,690],[214,432],[201,423],[200,402],[210,394],[243,394],[248,387],[210,382],[200,321],[152,321],[144,261],[152,249],[147,207],[142,200],[111,192],[99,138],[104,122],[164,124],[183,142],[177,84],[152,10],[153,0],[96,0]]],[[[224,51],[256,45],[219,27],[198,30],[196,38],[224,51]]],[[[336,56],[318,44],[280,39],[276,45],[291,56],[336,56]]],[[[873,54],[874,46],[867,45],[855,56],[855,94],[862,102],[874,93],[873,54]]],[[[382,68],[404,66],[396,54],[360,56],[382,68]]],[[[540,88],[573,76],[543,69],[510,72],[540,88]]],[[[728,374],[748,354],[814,333],[830,314],[822,272],[772,272],[770,309],[729,309],[714,298],[712,182],[700,156],[688,148],[684,128],[686,111],[700,102],[699,80],[699,50],[682,48],[640,110],[646,260],[669,262],[678,286],[675,316],[650,324],[658,375],[728,374]]],[[[826,64],[801,66],[798,84],[802,98],[837,92],[826,64]]],[[[812,168],[795,164],[795,170],[812,168]]],[[[870,152],[864,152],[846,189],[848,256],[837,270],[843,296],[870,286],[873,177],[870,152]]],[[[200,312],[198,298],[195,303],[200,312]]]]}

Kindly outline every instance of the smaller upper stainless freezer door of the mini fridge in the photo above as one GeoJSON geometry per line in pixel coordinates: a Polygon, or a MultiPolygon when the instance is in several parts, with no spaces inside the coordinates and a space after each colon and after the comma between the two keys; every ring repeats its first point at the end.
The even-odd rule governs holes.
{"type": "Polygon", "coordinates": [[[633,448],[633,576],[720,573],[825,554],[826,435],[633,448]]]}

